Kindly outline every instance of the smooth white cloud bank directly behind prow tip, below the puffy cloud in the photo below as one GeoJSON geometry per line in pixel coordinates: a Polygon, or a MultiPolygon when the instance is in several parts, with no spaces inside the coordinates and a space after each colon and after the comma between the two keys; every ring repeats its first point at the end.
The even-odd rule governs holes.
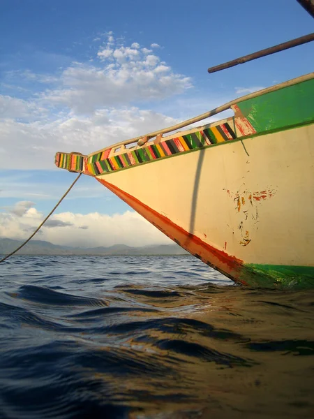
{"type": "Polygon", "coordinates": [[[51,122],[6,119],[0,121],[1,169],[51,170],[58,151],[89,154],[176,122],[158,112],[135,107],[96,110],[90,117],[66,115],[51,122]]]}

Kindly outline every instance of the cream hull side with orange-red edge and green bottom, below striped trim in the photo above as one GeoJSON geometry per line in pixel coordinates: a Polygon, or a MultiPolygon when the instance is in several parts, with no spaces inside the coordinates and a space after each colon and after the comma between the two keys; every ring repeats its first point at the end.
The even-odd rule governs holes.
{"type": "Polygon", "coordinates": [[[96,178],[235,281],[313,286],[313,136],[306,124],[96,178]]]}

